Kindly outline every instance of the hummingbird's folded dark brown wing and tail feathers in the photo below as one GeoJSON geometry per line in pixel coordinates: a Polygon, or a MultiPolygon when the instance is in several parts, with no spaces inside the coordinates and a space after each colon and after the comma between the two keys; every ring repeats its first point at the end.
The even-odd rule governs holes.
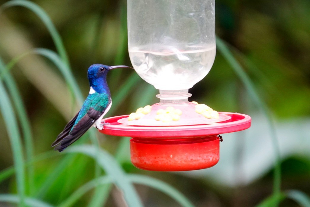
{"type": "Polygon", "coordinates": [[[66,147],[68,147],[70,144],[78,140],[89,128],[91,128],[94,122],[97,119],[99,119],[99,117],[103,113],[104,113],[104,110],[97,111],[94,108],[90,108],[85,114],[85,116],[82,117],[80,121],[78,121],[78,123],[73,127],[71,131],[69,130],[69,132],[66,135],[62,135],[63,132],[58,135],[59,138],[57,137],[56,139],[56,141],[58,140],[58,142],[56,141],[54,142],[56,145],[54,150],[58,150],[59,152],[61,152],[66,147]]]}

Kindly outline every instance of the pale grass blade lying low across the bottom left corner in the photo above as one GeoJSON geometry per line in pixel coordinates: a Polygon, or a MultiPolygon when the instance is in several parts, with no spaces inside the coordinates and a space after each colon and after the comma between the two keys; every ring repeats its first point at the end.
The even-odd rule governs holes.
{"type": "MultiPolygon", "coordinates": [[[[0,201],[17,203],[17,204],[21,203],[20,197],[18,195],[13,194],[0,194],[0,201]]],[[[53,207],[52,205],[44,203],[41,200],[29,197],[25,198],[25,204],[31,207],[53,207]]]]}

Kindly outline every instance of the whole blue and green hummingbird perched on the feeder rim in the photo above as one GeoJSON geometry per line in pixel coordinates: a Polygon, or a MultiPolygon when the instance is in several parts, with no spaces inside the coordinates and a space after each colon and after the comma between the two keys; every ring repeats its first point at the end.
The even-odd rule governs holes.
{"type": "Polygon", "coordinates": [[[78,140],[91,126],[102,130],[105,124],[102,118],[112,105],[110,89],[107,84],[108,71],[115,68],[131,68],[126,65],[108,66],[93,64],[88,68],[87,77],[90,85],[89,94],[80,111],[68,122],[64,130],[57,136],[51,147],[62,152],[70,144],[78,140]]]}

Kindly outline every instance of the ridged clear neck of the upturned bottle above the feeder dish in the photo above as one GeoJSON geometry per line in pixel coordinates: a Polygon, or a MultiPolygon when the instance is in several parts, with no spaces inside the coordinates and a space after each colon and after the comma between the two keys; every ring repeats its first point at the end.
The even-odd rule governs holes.
{"type": "Polygon", "coordinates": [[[188,103],[188,97],[192,94],[188,93],[188,89],[185,90],[159,90],[159,94],[156,95],[160,99],[162,105],[174,105],[188,103]]]}

